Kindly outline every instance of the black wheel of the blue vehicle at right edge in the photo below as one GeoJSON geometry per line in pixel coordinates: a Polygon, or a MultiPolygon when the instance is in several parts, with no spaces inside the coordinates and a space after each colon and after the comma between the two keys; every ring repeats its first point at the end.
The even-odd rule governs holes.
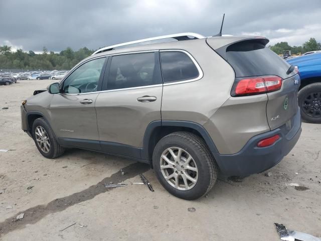
{"type": "Polygon", "coordinates": [[[321,123],[321,83],[304,86],[298,93],[298,102],[303,121],[321,123]]]}

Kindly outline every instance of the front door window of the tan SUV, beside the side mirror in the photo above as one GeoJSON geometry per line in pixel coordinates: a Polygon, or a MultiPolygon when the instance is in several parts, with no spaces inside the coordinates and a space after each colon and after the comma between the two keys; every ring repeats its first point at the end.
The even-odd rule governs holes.
{"type": "Polygon", "coordinates": [[[98,81],[105,58],[91,60],[73,71],[64,81],[64,93],[97,91],[98,81]]]}

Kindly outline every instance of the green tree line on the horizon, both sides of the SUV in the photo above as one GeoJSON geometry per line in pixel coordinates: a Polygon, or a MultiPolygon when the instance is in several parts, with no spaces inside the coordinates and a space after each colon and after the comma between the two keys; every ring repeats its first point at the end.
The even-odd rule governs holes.
{"type": "MultiPolygon", "coordinates": [[[[287,42],[280,42],[268,46],[276,54],[283,54],[284,50],[291,50],[291,54],[303,54],[309,51],[321,50],[321,44],[310,38],[302,46],[290,46],[287,42]]],[[[79,61],[94,52],[86,47],[73,51],[66,48],[60,53],[48,52],[46,47],[41,54],[34,51],[24,52],[22,49],[12,51],[11,46],[0,46],[0,69],[42,69],[69,70],[79,61]]]]}

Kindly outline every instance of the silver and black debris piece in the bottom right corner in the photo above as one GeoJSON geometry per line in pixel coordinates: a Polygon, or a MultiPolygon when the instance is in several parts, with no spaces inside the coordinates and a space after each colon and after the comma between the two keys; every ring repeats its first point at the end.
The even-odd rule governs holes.
{"type": "Polygon", "coordinates": [[[281,240],[285,241],[321,241],[321,238],[312,236],[308,233],[288,230],[283,224],[274,223],[277,233],[280,235],[281,240]]]}

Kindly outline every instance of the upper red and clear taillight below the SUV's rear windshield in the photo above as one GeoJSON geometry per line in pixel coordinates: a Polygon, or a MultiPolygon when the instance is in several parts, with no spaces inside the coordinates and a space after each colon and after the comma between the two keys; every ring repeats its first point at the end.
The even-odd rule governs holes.
{"type": "Polygon", "coordinates": [[[254,95],[279,90],[282,78],[279,76],[260,76],[236,79],[231,91],[232,96],[254,95]]]}

